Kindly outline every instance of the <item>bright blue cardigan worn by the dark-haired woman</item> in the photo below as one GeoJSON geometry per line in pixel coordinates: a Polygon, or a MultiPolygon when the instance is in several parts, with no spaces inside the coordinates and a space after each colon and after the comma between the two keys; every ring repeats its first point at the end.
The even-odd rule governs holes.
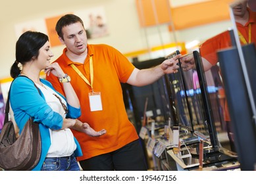
{"type": "MultiPolygon", "coordinates": [[[[56,91],[49,81],[43,79],[40,79],[40,81],[56,91]]],[[[38,89],[36,89],[32,80],[26,77],[18,77],[13,81],[10,90],[11,108],[13,109],[14,119],[20,129],[20,132],[30,116],[34,118],[35,122],[40,122],[41,158],[38,165],[33,170],[41,170],[43,161],[45,160],[46,154],[51,146],[49,128],[61,129],[63,126],[63,118],[59,113],[54,112],[51,107],[45,103],[43,93],[40,89],[40,94],[38,93],[38,89]]],[[[61,95],[61,93],[58,94],[61,95]]],[[[61,95],[61,97],[63,97],[63,95],[61,95]]],[[[65,98],[63,97],[63,99],[65,98]]],[[[69,104],[67,104],[67,107],[68,114],[66,114],[66,118],[78,118],[81,116],[80,108],[74,108],[69,104]]],[[[75,156],[82,156],[82,149],[75,137],[74,141],[77,146],[74,151],[75,156]]]]}

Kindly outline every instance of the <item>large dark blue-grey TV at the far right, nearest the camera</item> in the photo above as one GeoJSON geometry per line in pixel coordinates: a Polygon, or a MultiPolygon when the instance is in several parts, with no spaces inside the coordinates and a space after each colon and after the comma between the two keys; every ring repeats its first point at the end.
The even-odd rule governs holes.
{"type": "MultiPolygon", "coordinates": [[[[251,82],[251,91],[255,95],[255,72],[253,70],[256,58],[255,47],[254,45],[245,45],[242,47],[242,51],[249,81],[251,82]]],[[[238,152],[238,160],[241,163],[241,170],[252,171],[255,170],[256,163],[256,122],[255,118],[253,118],[252,102],[249,99],[245,83],[242,61],[236,47],[218,51],[218,58],[220,58],[220,68],[227,94],[228,109],[232,120],[234,141],[238,152]]]]}

